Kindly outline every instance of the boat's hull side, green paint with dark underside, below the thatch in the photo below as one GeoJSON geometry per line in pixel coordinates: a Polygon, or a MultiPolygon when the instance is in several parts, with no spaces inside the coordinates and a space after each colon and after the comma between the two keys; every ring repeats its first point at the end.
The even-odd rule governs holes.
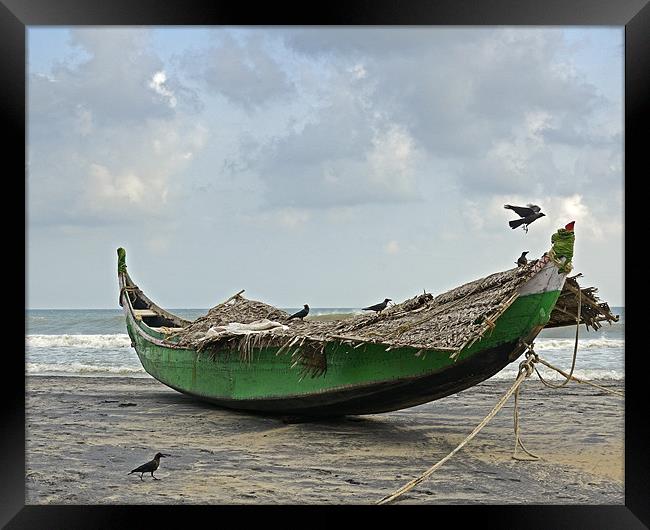
{"type": "Polygon", "coordinates": [[[301,377],[278,348],[199,353],[163,343],[163,336],[126,312],[127,329],[144,369],[165,385],[223,407],[264,413],[334,416],[411,407],[469,388],[515,361],[548,322],[560,290],[519,296],[481,340],[454,358],[448,351],[386,351],[332,342],[327,371],[301,377]],[[418,354],[419,355],[416,355],[418,354]]]}

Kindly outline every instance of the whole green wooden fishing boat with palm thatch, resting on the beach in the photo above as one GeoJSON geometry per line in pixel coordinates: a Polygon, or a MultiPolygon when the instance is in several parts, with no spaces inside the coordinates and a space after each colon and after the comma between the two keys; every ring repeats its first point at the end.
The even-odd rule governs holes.
{"type": "MultiPolygon", "coordinates": [[[[554,243],[523,267],[333,323],[288,321],[241,292],[205,317],[183,319],[135,285],[120,248],[120,304],[144,369],[179,392],[267,414],[380,413],[476,385],[514,362],[547,324],[575,325],[566,302],[582,291],[566,282],[570,235],[570,251],[554,243]],[[564,306],[556,309],[561,295],[564,306]]],[[[587,326],[616,320],[593,292],[582,303],[591,308],[581,313],[587,326]]]]}

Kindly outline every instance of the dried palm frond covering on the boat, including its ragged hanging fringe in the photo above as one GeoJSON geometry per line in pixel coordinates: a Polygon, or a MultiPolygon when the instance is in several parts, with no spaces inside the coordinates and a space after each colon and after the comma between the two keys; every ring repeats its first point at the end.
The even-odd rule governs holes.
{"type": "MultiPolygon", "coordinates": [[[[518,287],[544,263],[531,260],[523,267],[491,274],[436,297],[425,292],[389,306],[380,314],[344,320],[289,320],[285,311],[248,300],[240,291],[175,333],[173,340],[211,355],[222,350],[238,351],[246,362],[252,360],[256,349],[275,347],[277,355],[291,355],[292,366],[299,364],[302,376],[312,377],[327,371],[325,346],[331,342],[354,347],[376,343],[388,350],[411,347],[417,348],[418,354],[447,351],[455,357],[494,328],[496,319],[516,300],[518,287]]],[[[547,327],[575,324],[576,294],[580,289],[576,277],[567,278],[547,327]]],[[[611,315],[607,304],[598,303],[594,292],[594,288],[582,289],[581,322],[598,329],[600,321],[615,322],[618,317],[611,315]]]]}

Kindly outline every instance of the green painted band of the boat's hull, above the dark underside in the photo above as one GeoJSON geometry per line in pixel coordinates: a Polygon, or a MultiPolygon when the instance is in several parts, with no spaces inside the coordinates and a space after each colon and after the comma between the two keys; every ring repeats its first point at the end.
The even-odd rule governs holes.
{"type": "Polygon", "coordinates": [[[127,329],[144,369],[162,383],[177,390],[210,399],[252,400],[307,396],[372,383],[409,379],[442,372],[482,351],[527,337],[549,320],[560,291],[520,296],[499,317],[492,332],[460,352],[453,360],[449,352],[417,348],[385,351],[381,345],[357,349],[341,343],[327,346],[328,370],[314,378],[300,377],[300,366],[277,348],[254,352],[253,361],[243,362],[237,351],[220,351],[211,356],[189,349],[174,349],[151,342],[146,335],[162,338],[127,316],[127,329]],[[136,329],[140,328],[140,332],[136,329]]]}

